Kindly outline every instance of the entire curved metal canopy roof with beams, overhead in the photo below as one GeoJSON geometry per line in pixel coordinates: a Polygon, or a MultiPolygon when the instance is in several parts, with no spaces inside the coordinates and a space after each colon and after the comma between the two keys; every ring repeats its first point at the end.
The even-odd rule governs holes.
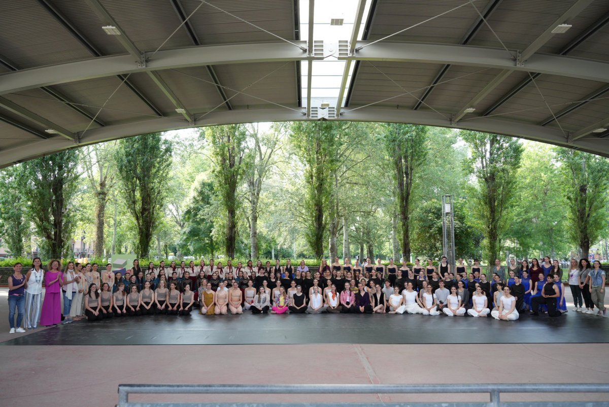
{"type": "Polygon", "coordinates": [[[0,167],[141,133],[319,119],[473,129],[609,157],[606,0],[345,0],[351,35],[318,40],[313,16],[326,6],[2,2],[0,167]],[[329,60],[345,63],[338,97],[322,105],[311,67],[329,60]]]}

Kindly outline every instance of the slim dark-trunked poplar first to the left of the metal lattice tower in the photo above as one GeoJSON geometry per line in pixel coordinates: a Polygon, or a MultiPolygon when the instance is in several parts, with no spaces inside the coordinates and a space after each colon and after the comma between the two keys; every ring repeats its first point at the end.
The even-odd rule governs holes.
{"type": "Polygon", "coordinates": [[[395,123],[384,125],[385,148],[393,166],[395,189],[398,194],[402,256],[407,260],[410,260],[412,187],[428,155],[427,133],[426,126],[395,123]]]}

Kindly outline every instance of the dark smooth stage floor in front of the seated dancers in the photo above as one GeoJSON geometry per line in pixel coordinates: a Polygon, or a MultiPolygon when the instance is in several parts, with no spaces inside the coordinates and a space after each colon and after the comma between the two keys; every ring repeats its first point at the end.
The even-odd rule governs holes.
{"type": "MultiPolygon", "coordinates": [[[[197,311],[197,310],[195,310],[197,311]]],[[[79,321],[10,339],[0,345],[239,345],[239,344],[502,344],[607,343],[604,317],[422,315],[224,315],[122,317],[79,321]]]]}

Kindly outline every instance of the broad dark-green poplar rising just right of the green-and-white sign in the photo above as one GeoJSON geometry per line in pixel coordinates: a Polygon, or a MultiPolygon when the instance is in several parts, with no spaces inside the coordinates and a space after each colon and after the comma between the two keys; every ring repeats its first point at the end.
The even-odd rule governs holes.
{"type": "Polygon", "coordinates": [[[171,143],[161,133],[124,138],[114,153],[122,197],[135,219],[135,249],[140,258],[148,257],[152,233],[163,212],[171,154],[171,143]]]}

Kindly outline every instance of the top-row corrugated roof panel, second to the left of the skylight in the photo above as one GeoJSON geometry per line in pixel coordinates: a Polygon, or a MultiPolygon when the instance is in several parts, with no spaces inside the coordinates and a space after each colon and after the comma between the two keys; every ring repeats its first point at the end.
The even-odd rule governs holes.
{"type": "MultiPolygon", "coordinates": [[[[155,51],[181,23],[167,0],[102,0],[101,3],[139,51],[155,51]]],[[[116,39],[115,41],[118,42],[116,39]]],[[[179,29],[161,49],[191,45],[186,30],[179,29]]]]}

